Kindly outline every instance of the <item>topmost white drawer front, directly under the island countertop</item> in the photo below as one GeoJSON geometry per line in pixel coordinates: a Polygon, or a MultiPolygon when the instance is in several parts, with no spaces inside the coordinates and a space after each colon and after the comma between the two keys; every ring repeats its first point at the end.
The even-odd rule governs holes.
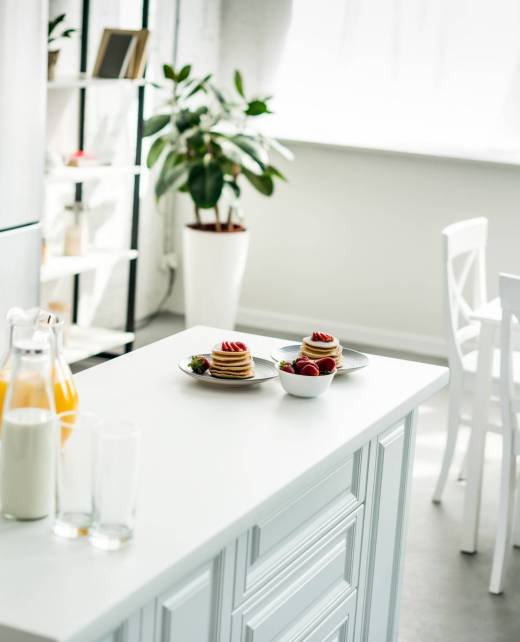
{"type": "Polygon", "coordinates": [[[364,500],[367,448],[323,475],[237,544],[234,605],[239,606],[364,500]]]}

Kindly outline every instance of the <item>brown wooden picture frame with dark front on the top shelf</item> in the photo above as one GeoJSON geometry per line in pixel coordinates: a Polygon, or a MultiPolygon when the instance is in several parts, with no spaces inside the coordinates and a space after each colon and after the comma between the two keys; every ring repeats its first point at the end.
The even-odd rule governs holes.
{"type": "Polygon", "coordinates": [[[105,28],[92,76],[95,78],[143,77],[150,32],[148,29],[105,28]]]}

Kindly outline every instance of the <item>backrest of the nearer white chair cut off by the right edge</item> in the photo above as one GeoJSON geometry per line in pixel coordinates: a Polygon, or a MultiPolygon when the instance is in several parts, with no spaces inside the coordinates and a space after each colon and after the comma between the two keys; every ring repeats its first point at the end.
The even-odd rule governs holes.
{"type": "Polygon", "coordinates": [[[515,396],[511,325],[514,318],[520,321],[520,277],[512,276],[511,274],[500,275],[500,301],[502,304],[502,322],[500,325],[500,403],[504,439],[510,439],[509,443],[514,452],[518,451],[520,446],[518,438],[516,438],[520,398],[515,396]]]}

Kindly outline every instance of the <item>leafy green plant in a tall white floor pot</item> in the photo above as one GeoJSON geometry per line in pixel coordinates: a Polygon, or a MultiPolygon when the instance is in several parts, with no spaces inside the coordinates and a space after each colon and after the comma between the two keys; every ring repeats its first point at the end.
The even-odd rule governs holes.
{"type": "Polygon", "coordinates": [[[164,65],[163,71],[169,96],[145,121],[143,134],[155,136],[147,165],[159,168],[156,198],[179,191],[193,202],[194,221],[183,232],[186,325],[233,328],[249,242],[240,210],[242,183],[271,196],[275,180],[284,179],[271,152],[292,155],[251,127],[251,120],[271,113],[270,97],[247,98],[240,72],[228,95],[211,75],[192,76],[191,65],[164,65]]]}

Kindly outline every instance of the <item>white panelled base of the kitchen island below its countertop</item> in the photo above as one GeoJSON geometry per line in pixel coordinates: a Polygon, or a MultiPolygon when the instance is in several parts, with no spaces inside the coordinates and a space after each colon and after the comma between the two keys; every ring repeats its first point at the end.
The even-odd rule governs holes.
{"type": "Polygon", "coordinates": [[[397,639],[415,412],[271,506],[99,642],[397,639]]]}

